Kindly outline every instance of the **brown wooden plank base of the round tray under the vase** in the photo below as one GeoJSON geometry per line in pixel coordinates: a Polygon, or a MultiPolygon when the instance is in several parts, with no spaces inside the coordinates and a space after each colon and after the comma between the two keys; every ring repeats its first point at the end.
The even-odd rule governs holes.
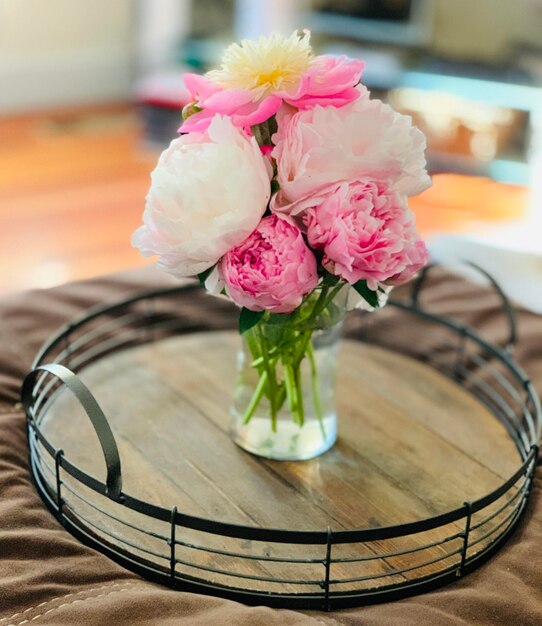
{"type": "MultiPolygon", "coordinates": [[[[455,509],[498,487],[520,464],[505,429],[464,389],[427,365],[357,341],[343,342],[340,353],[340,428],[335,447],[320,458],[297,463],[253,457],[228,437],[238,342],[231,332],[169,338],[110,355],[82,373],[115,432],[126,493],[221,521],[292,530],[329,526],[338,531],[407,523],[455,509]]],[[[58,398],[43,427],[72,463],[103,479],[97,438],[70,396],[63,393],[58,398]]],[[[164,536],[169,533],[167,524],[100,499],[69,477],[66,485],[90,504],[69,493],[67,500],[113,533],[119,545],[129,542],[167,557],[164,541],[111,521],[92,504],[164,536]]],[[[501,518],[496,516],[495,524],[501,518]]],[[[337,546],[334,554],[370,558],[397,553],[461,530],[461,524],[450,524],[408,537],[337,546]]],[[[262,545],[186,529],[179,533],[185,541],[219,550],[289,558],[309,551],[322,558],[322,546],[262,545]]],[[[373,586],[417,578],[457,563],[459,547],[460,540],[454,540],[411,554],[334,564],[332,577],[383,576],[367,582],[373,586]],[[447,560],[416,568],[439,557],[447,560]],[[395,573],[404,568],[416,569],[395,573]]],[[[143,552],[142,556],[163,564],[159,557],[143,552]]],[[[182,547],[178,558],[226,570],[233,562],[240,574],[300,577],[296,564],[232,559],[182,547]]],[[[304,568],[304,577],[321,579],[321,564],[304,568]]],[[[178,571],[194,574],[194,568],[182,564],[178,571]]],[[[221,574],[206,576],[224,582],[221,574]]],[[[238,579],[233,582],[239,584],[238,579]]],[[[276,589],[261,581],[242,584],[276,589]]],[[[298,587],[284,586],[297,591],[298,587]]]]}

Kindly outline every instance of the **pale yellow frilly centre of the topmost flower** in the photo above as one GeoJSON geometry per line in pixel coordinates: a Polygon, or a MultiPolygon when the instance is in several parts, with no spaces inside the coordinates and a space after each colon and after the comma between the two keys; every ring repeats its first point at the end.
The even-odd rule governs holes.
{"type": "Polygon", "coordinates": [[[255,91],[256,98],[276,91],[293,93],[312,56],[308,31],[244,39],[226,48],[220,69],[208,72],[207,78],[226,89],[255,91]]]}

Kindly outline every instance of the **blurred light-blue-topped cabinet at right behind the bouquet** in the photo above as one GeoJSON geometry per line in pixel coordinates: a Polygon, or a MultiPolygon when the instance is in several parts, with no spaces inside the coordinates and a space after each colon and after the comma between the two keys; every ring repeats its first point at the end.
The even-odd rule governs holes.
{"type": "Polygon", "coordinates": [[[330,54],[366,61],[363,82],[376,97],[411,115],[426,134],[433,172],[489,176],[528,184],[542,153],[542,89],[521,72],[331,41],[330,54]]]}

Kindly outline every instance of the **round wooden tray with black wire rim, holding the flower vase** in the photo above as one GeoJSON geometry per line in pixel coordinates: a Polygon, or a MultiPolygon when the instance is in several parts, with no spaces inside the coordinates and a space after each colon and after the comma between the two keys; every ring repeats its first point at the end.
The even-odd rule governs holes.
{"type": "Polygon", "coordinates": [[[36,390],[35,375],[41,406],[26,404],[40,492],[74,534],[128,567],[248,602],[348,606],[452,580],[487,558],[519,519],[536,451],[522,443],[520,423],[516,432],[496,419],[481,393],[498,380],[491,368],[503,379],[507,362],[481,357],[477,343],[469,350],[468,335],[450,347],[442,330],[456,336],[453,328],[428,332],[427,320],[408,322],[397,311],[371,316],[371,332],[360,334],[365,318],[356,314],[339,355],[337,444],[310,461],[278,462],[228,436],[235,332],[198,332],[185,321],[180,328],[196,332],[149,335],[152,315],[160,328],[164,313],[136,312],[140,325],[130,311],[132,331],[146,341],[112,343],[127,311],[114,313],[105,327],[103,314],[91,316],[101,323],[90,330],[72,325],[70,336],[82,328],[86,338],[72,337],[55,360],[75,359],[78,384],[107,416],[122,493],[101,482],[113,470],[80,393],[47,383],[47,374],[36,390]],[[411,354],[397,351],[405,331],[411,354]],[[480,359],[485,366],[475,370],[480,359]],[[459,381],[443,373],[448,367],[459,381]]]}

